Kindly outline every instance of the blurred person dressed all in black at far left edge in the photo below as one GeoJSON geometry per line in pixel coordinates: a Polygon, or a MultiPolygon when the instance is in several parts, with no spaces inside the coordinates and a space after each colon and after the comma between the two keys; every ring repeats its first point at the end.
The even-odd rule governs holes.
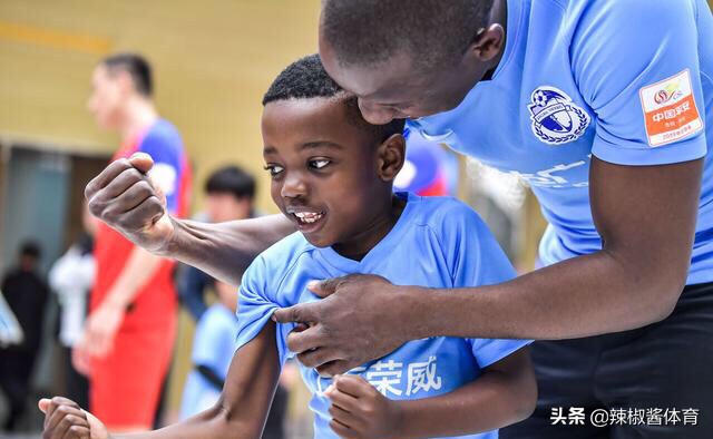
{"type": "Polygon", "coordinates": [[[40,256],[39,244],[25,242],[20,246],[17,266],[6,273],[0,287],[23,334],[19,344],[0,348],[0,388],[10,406],[3,423],[6,431],[16,431],[25,416],[30,378],[40,349],[42,320],[38,315],[45,313],[49,291],[39,274],[40,256]]]}

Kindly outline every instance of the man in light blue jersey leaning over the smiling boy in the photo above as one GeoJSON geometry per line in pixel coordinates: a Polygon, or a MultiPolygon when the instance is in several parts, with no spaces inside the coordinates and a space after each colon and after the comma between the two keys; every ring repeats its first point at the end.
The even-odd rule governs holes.
{"type": "MultiPolygon", "coordinates": [[[[550,222],[540,251],[548,266],[436,294],[368,276],[328,282],[315,289],[335,291],[328,299],[275,313],[312,323],[290,340],[300,360],[335,373],[424,336],[584,338],[536,343],[538,410],[504,437],[710,437],[713,417],[703,413],[713,400],[701,386],[713,381],[709,6],[328,0],[320,30],[325,68],[360,97],[367,119],[422,117],[413,126],[431,139],[533,185],[550,222]],[[363,328],[369,334],[354,336],[363,328]],[[553,426],[558,409],[625,416],[606,428],[553,426]],[[697,426],[684,425],[684,410],[701,413],[697,426]]],[[[89,194],[108,199],[131,166],[148,164],[105,170],[89,194]]],[[[116,208],[129,199],[110,198],[116,208]]],[[[172,221],[155,198],[143,206],[152,216],[95,212],[215,274],[229,269],[218,257],[244,262],[260,248],[251,234],[265,244],[285,227],[271,218],[212,228],[172,221]]]]}

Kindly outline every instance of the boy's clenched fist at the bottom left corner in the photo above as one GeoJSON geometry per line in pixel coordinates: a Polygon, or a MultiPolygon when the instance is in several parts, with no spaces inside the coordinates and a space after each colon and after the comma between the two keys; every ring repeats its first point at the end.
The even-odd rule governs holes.
{"type": "Polygon", "coordinates": [[[109,439],[107,428],[67,398],[41,399],[38,407],[45,413],[42,439],[109,439]]]}

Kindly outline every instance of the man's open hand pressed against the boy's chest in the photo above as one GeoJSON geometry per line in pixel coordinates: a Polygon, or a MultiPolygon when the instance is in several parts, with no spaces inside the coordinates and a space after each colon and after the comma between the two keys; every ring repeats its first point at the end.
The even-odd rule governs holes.
{"type": "Polygon", "coordinates": [[[309,323],[310,328],[287,336],[287,347],[302,364],[316,368],[320,374],[344,373],[410,340],[404,287],[367,274],[315,282],[307,287],[324,299],[277,310],[273,320],[309,323]]]}

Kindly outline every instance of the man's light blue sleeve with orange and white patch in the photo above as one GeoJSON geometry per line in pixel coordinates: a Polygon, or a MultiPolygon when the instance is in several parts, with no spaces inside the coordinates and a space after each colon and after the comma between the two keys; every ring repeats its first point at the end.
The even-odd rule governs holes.
{"type": "Polygon", "coordinates": [[[575,80],[598,121],[592,153],[619,165],[706,154],[693,1],[612,1],[580,19],[575,80]]]}

